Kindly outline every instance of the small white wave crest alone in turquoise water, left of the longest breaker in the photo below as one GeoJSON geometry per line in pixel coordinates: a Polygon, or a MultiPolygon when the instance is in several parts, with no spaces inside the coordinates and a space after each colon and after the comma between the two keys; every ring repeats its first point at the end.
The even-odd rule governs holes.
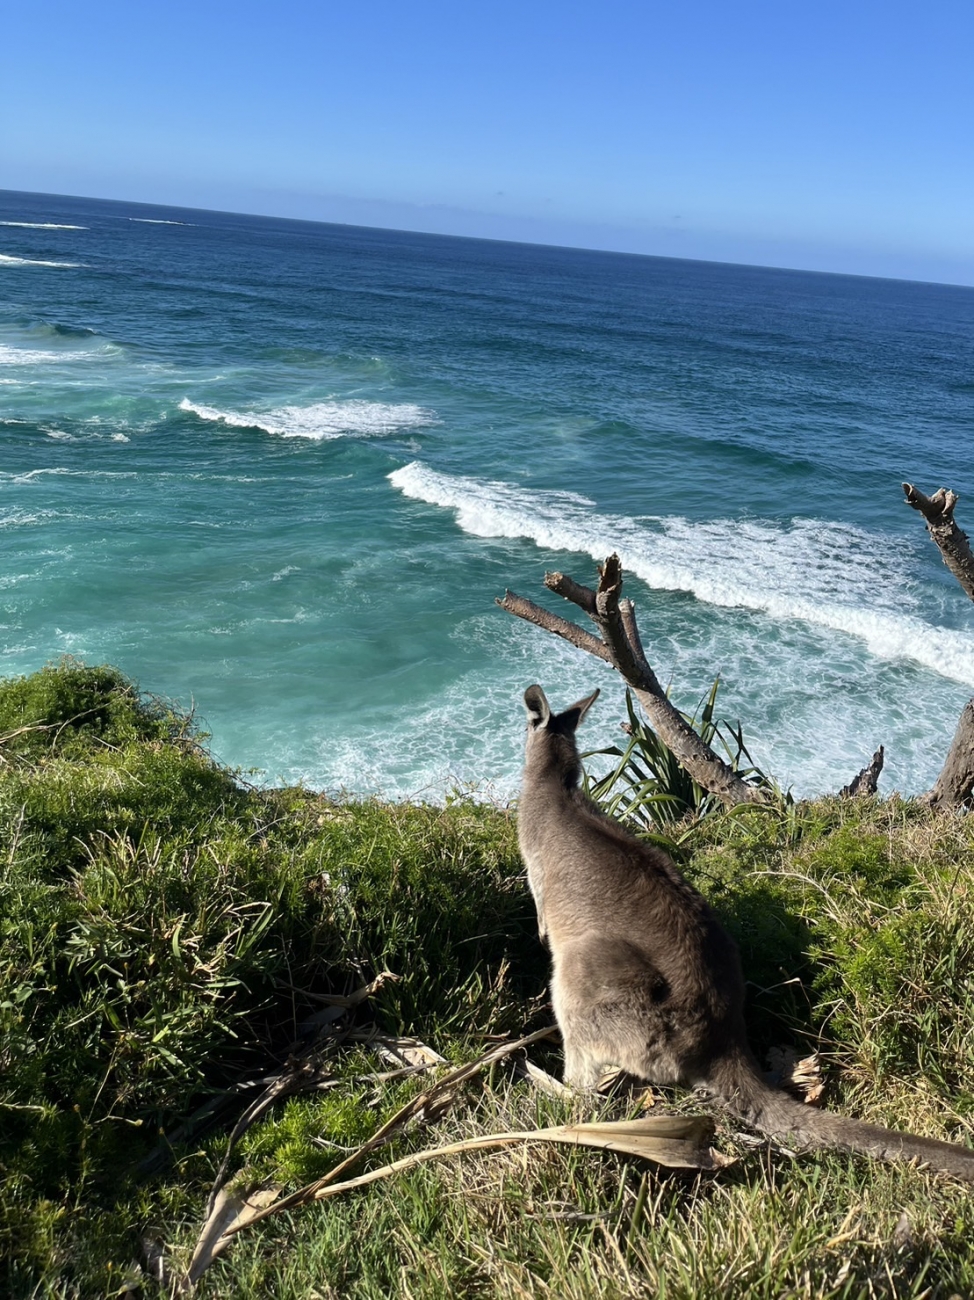
{"type": "Polygon", "coordinates": [[[183,398],[179,410],[234,429],[263,429],[281,438],[313,438],[319,442],[347,436],[397,433],[433,424],[436,419],[432,411],[411,403],[362,400],[316,402],[312,406],[286,406],[274,411],[220,411],[183,398]]]}

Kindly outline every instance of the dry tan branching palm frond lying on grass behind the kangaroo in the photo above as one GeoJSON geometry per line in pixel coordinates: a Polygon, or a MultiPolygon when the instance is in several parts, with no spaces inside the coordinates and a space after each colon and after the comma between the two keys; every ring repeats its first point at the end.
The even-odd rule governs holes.
{"type": "MultiPolygon", "coordinates": [[[[532,1043],[547,1037],[554,1032],[554,1026],[549,1026],[514,1043],[503,1043],[490,1052],[484,1053],[476,1061],[451,1070],[430,1088],[402,1106],[372,1138],[351,1152],[345,1160],[339,1161],[328,1174],[291,1192],[289,1196],[281,1196],[277,1187],[261,1187],[247,1195],[228,1193],[220,1184],[226,1171],[230,1149],[233,1149],[234,1141],[243,1130],[252,1124],[277,1097],[294,1091],[293,1087],[287,1087],[282,1078],[277,1086],[268,1088],[254,1106],[250,1108],[247,1115],[242,1117],[231,1135],[230,1149],[228,1149],[226,1157],[222,1161],[217,1182],[209,1197],[205,1223],[196,1242],[185,1279],[177,1283],[177,1290],[191,1291],[207,1268],[209,1268],[209,1264],[226,1249],[231,1238],[243,1228],[259,1223],[261,1219],[285,1210],[298,1209],[302,1205],[338,1196],[358,1187],[367,1187],[371,1183],[390,1178],[417,1165],[443,1160],[463,1152],[488,1150],[490,1148],[511,1147],[518,1143],[546,1141],[575,1147],[596,1147],[602,1150],[638,1156],[642,1160],[652,1160],[667,1169],[715,1170],[733,1164],[730,1157],[714,1150],[710,1145],[714,1136],[714,1122],[709,1117],[654,1115],[644,1119],[609,1123],[557,1124],[547,1128],[484,1134],[477,1138],[466,1139],[464,1141],[449,1143],[442,1147],[429,1147],[424,1150],[414,1152],[410,1156],[403,1156],[401,1160],[354,1178],[345,1179],[342,1176],[365,1156],[402,1132],[411,1121],[429,1123],[441,1118],[453,1104],[462,1084],[482,1069],[501,1061],[503,1057],[520,1052],[532,1043]]],[[[420,1044],[420,1046],[424,1053],[437,1056],[424,1044],[420,1044]]],[[[536,1079],[544,1075],[544,1071],[537,1069],[531,1072],[536,1079]]],[[[545,1075],[546,1080],[547,1078],[545,1075]]]]}

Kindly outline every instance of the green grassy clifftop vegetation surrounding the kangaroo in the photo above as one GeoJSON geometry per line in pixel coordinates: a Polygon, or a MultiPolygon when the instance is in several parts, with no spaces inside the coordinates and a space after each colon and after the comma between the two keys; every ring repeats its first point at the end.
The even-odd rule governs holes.
{"type": "MultiPolygon", "coordinates": [[[[715,814],[678,849],[741,946],[756,1048],[817,1046],[831,1108],[967,1144],[973,846],[970,818],[830,800],[715,814]]],[[[307,1048],[315,994],[382,970],[354,1023],[455,1062],[550,1019],[510,811],[255,790],[113,670],[0,684],[0,1294],[160,1294],[142,1239],[189,1258],[230,1089],[307,1048]]],[[[329,1041],[329,1087],[247,1131],[235,1182],[320,1176],[421,1087],[329,1041]]],[[[558,1072],[557,1046],[532,1057],[558,1072]]],[[[570,1118],[502,1065],[371,1161],[570,1118]]],[[[707,1175],[540,1145],[414,1169],[242,1232],[199,1295],[974,1295],[969,1188],[718,1141],[740,1158],[707,1175]]]]}

